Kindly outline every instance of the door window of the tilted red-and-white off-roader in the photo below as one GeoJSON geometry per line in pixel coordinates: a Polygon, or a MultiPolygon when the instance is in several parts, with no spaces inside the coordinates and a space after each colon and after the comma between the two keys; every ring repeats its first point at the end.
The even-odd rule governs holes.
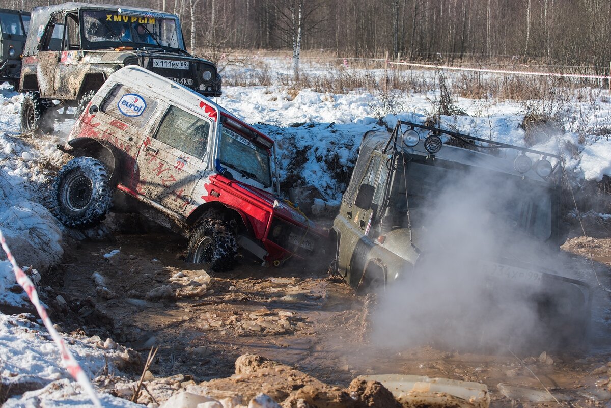
{"type": "Polygon", "coordinates": [[[202,159],[208,150],[208,134],[210,122],[176,106],[170,106],[155,133],[155,139],[202,159]]]}

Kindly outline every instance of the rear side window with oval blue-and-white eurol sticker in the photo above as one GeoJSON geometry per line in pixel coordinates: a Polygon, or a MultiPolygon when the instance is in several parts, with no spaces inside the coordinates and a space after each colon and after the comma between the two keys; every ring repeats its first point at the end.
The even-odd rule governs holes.
{"type": "Polygon", "coordinates": [[[134,128],[142,128],[157,107],[157,101],[117,84],[102,103],[101,111],[134,128]]]}

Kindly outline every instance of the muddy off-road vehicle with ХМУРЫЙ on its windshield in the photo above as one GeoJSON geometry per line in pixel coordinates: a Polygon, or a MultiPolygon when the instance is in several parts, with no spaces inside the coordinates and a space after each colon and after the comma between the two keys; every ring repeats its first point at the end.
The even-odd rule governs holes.
{"type": "Polygon", "coordinates": [[[34,7],[21,69],[24,132],[78,117],[104,81],[139,65],[205,96],[221,95],[212,62],[189,54],[178,16],[138,7],[67,2],[34,7]],[[76,107],[76,114],[68,111],[76,107]]]}

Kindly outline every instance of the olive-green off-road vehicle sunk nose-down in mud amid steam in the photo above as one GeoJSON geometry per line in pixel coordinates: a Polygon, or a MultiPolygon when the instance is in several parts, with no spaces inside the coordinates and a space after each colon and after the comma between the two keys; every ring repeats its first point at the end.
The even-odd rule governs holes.
{"type": "MultiPolygon", "coordinates": [[[[561,276],[553,263],[546,262],[557,255],[568,234],[560,209],[561,168],[559,156],[551,153],[418,123],[399,121],[390,134],[365,133],[334,220],[337,271],[359,291],[379,290],[435,273],[427,266],[452,257],[451,247],[467,247],[476,254],[472,268],[486,280],[480,287],[491,288],[493,299],[511,288],[540,313],[541,321],[558,329],[558,338],[578,345],[589,321],[590,285],[575,276],[561,276]],[[440,210],[437,204],[447,197],[444,189],[460,189],[464,183],[485,186],[464,192],[479,194],[481,209],[464,209],[463,199],[456,198],[440,210]],[[452,206],[462,211],[452,217],[485,213],[491,228],[499,228],[486,238],[494,242],[480,247],[475,242],[451,242],[448,247],[442,238],[453,226],[437,223],[437,230],[432,229],[442,216],[439,211],[452,206]]],[[[459,235],[469,240],[470,228],[459,235]]]]}

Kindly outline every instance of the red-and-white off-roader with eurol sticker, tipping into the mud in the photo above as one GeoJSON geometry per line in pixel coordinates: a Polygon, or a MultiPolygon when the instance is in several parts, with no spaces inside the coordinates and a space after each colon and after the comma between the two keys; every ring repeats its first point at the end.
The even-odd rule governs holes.
{"type": "Polygon", "coordinates": [[[189,236],[188,261],[216,271],[232,268],[236,243],[277,266],[327,235],[280,199],[272,139],[141,67],[112,74],[59,148],[75,156],[53,192],[68,227],[137,211],[189,236]]]}

